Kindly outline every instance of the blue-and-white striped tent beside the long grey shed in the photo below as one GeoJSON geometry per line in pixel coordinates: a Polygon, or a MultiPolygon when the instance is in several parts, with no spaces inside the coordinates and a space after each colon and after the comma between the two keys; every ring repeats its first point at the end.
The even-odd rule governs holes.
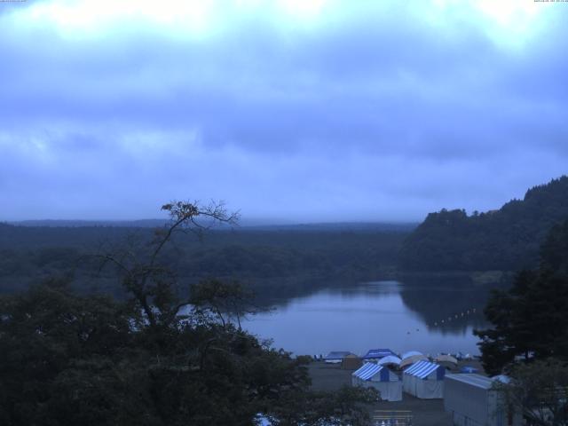
{"type": "Polygon", "coordinates": [[[429,361],[418,361],[404,372],[403,390],[416,398],[443,398],[444,375],[446,375],[445,367],[429,361]]]}

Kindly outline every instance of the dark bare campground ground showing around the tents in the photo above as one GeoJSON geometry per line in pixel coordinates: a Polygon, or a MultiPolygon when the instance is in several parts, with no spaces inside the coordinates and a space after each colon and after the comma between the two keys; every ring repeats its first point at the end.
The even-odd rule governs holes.
{"type": "MultiPolygon", "coordinates": [[[[461,365],[480,368],[477,361],[467,361],[461,365]]],[[[461,366],[458,366],[458,368],[461,366]]],[[[309,372],[312,377],[313,390],[338,390],[344,384],[351,385],[353,370],[343,369],[338,364],[326,364],[315,361],[310,364],[309,372]]],[[[482,372],[482,370],[479,370],[482,372]]],[[[442,399],[414,398],[402,393],[402,401],[377,401],[369,406],[371,415],[377,412],[410,412],[413,426],[451,426],[452,416],[444,411],[442,399]]],[[[378,424],[381,424],[380,422],[378,424]]]]}

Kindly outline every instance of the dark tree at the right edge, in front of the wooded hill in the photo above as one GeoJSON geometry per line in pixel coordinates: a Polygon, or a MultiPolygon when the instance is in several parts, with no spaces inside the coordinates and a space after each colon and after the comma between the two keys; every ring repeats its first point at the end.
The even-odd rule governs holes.
{"type": "Polygon", "coordinates": [[[518,356],[568,360],[568,221],[552,228],[541,253],[537,271],[518,273],[512,288],[494,291],[485,307],[493,328],[476,334],[491,374],[518,356]]]}

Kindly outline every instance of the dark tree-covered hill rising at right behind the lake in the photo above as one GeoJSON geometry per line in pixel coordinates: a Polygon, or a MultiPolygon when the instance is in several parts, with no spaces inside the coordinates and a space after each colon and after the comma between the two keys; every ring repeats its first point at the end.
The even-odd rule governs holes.
{"type": "Polygon", "coordinates": [[[529,189],[499,210],[430,213],[400,251],[406,271],[516,271],[538,264],[548,231],[568,218],[568,177],[529,189]]]}

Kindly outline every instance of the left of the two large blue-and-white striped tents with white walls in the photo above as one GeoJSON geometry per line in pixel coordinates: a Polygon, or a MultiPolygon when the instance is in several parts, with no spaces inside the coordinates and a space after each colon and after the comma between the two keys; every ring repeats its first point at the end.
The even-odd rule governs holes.
{"type": "Polygon", "coordinates": [[[387,367],[367,362],[351,375],[353,386],[375,388],[381,393],[381,399],[402,401],[402,382],[387,367]]]}

